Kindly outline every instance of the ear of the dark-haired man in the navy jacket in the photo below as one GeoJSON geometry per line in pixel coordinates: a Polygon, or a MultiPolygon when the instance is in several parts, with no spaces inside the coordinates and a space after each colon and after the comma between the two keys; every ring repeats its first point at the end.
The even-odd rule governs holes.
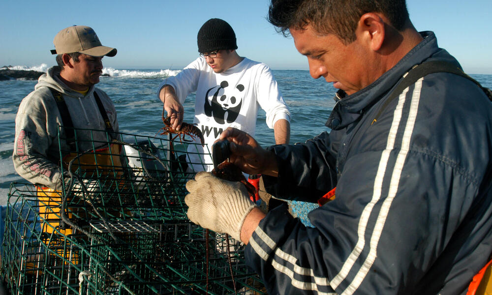
{"type": "Polygon", "coordinates": [[[356,35],[357,38],[362,38],[371,50],[380,50],[385,37],[384,20],[373,12],[362,15],[357,24],[356,35]]]}

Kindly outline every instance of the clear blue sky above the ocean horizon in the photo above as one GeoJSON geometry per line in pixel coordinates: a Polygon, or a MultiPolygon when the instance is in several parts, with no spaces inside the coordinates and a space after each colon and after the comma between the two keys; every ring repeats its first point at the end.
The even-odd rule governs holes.
{"type": "MultiPolygon", "coordinates": [[[[118,55],[104,66],[182,68],[197,57],[196,34],[210,18],[236,31],[238,53],[273,69],[307,69],[292,39],[266,20],[268,0],[1,0],[0,66],[55,64],[53,37],[71,25],[92,27],[118,55]]],[[[469,74],[492,74],[492,0],[407,0],[418,30],[433,30],[439,46],[469,74]]]]}

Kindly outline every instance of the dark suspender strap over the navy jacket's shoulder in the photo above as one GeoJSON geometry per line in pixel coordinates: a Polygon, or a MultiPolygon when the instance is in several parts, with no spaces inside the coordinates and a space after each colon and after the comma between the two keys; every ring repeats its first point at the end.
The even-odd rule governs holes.
{"type": "Polygon", "coordinates": [[[489,97],[489,99],[492,101],[492,90],[483,87],[478,81],[475,79],[471,78],[470,76],[466,75],[463,73],[463,71],[457,67],[456,65],[447,62],[447,61],[441,61],[441,60],[435,60],[435,61],[426,61],[423,62],[419,65],[416,65],[413,67],[407,75],[401,80],[401,82],[397,85],[397,87],[391,92],[389,97],[386,99],[386,101],[383,103],[381,106],[381,109],[377,113],[376,117],[372,120],[371,125],[377,121],[381,113],[388,107],[388,105],[397,97],[400,95],[401,92],[403,92],[404,89],[409,87],[410,85],[414,84],[419,80],[420,78],[427,76],[432,73],[452,73],[459,75],[463,78],[466,78],[473,83],[475,83],[480,89],[482,89],[485,94],[489,97]]]}

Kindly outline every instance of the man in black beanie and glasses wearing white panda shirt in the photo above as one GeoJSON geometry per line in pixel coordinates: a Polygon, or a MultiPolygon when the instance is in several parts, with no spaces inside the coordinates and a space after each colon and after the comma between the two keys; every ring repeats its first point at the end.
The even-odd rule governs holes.
{"type": "Polygon", "coordinates": [[[166,78],[157,90],[173,128],[178,130],[183,122],[184,99],[196,92],[193,123],[202,131],[208,147],[189,153],[190,168],[194,171],[213,169],[210,156],[198,157],[210,152],[227,127],[254,135],[258,106],[266,112],[268,127],[274,129],[275,143],[288,144],[290,112],[270,68],[240,57],[236,52],[236,34],[221,19],[213,18],[203,24],[198,31],[197,44],[200,57],[178,75],[166,78]]]}

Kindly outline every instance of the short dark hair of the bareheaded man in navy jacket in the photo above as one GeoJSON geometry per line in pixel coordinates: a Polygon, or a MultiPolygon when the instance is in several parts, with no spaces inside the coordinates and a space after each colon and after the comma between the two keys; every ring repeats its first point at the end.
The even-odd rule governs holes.
{"type": "Polygon", "coordinates": [[[335,34],[345,44],[355,40],[362,15],[384,14],[397,30],[409,19],[405,0],[272,0],[268,21],[284,36],[289,29],[305,29],[308,24],[321,34],[335,34]]]}

